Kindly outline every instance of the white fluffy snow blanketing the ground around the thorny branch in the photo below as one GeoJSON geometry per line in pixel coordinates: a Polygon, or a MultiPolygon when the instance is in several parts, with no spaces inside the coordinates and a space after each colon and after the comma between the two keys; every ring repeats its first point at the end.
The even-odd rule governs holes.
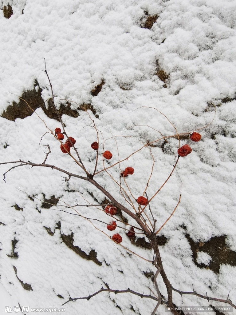
{"type": "MultiPolygon", "coordinates": [[[[142,143],[160,138],[156,130],[166,136],[176,133],[155,109],[139,107],[160,110],[178,133],[187,133],[210,123],[215,113],[211,104],[216,105],[214,121],[199,131],[202,140],[196,143],[181,140],[181,146],[187,143],[193,151],[179,159],[171,179],[150,205],[160,227],[182,194],[176,212],[160,232],[168,240],[160,246],[160,252],[173,287],[191,291],[193,284],[198,293],[207,292],[208,296],[222,299],[230,291],[229,298],[235,304],[235,264],[221,264],[219,273],[200,268],[194,263],[185,235],[195,243],[226,235],[226,251],[236,252],[236,1],[3,0],[1,9],[8,3],[13,15],[6,19],[3,11],[0,12],[0,113],[13,101],[19,102],[16,95],[34,89],[35,80],[42,89],[42,98],[51,97],[48,79],[42,71],[45,58],[54,95],[76,102],[78,105],[72,103],[73,109],[91,103],[99,116],[96,118],[88,111],[104,139],[108,139],[104,150],[111,151],[113,158],[106,165],[118,161],[117,147],[122,160],[142,143]],[[159,17],[151,29],[141,27],[148,16],[156,14],[159,17]],[[160,70],[169,76],[165,83],[159,78],[160,70]],[[102,81],[105,84],[101,92],[92,96],[91,91],[102,81]]],[[[55,102],[59,106],[61,101],[55,102]]],[[[41,108],[36,113],[51,130],[60,127],[41,108]]],[[[48,130],[36,113],[15,121],[0,117],[0,162],[22,159],[42,163],[47,152],[44,145],[49,145],[52,153],[47,163],[82,175],[68,154],[60,151],[58,141],[51,134],[46,134],[39,145],[48,130]]],[[[92,121],[82,111],[77,118],[63,115],[62,120],[68,135],[76,139],[81,159],[92,171],[95,151],[91,143],[96,141],[92,121]]],[[[150,149],[155,165],[148,196],[170,174],[177,159],[178,140],[169,138],[167,144],[162,144],[163,140],[121,163],[122,170],[128,166],[135,169],[126,179],[135,198],[143,195],[152,170],[150,149]]],[[[13,165],[1,165],[1,174],[13,165]]],[[[98,170],[102,168],[100,153],[98,170]]],[[[118,165],[112,168],[112,176],[119,181],[118,165]]],[[[95,180],[129,207],[109,175],[99,173],[95,180]]],[[[124,186],[123,179],[121,183],[124,186]]],[[[28,166],[7,173],[6,183],[2,180],[0,185],[1,314],[5,306],[18,306],[18,303],[30,308],[60,308],[68,300],[68,292],[71,297],[87,296],[88,292],[99,290],[101,284],[110,289],[155,292],[151,278],[144,275],[150,270],[155,272],[151,263],[130,255],[85,219],[55,210],[62,209],[59,204],[65,203],[101,203],[104,195],[93,186],[75,179],[68,186],[58,171],[28,166]],[[28,196],[35,196],[34,201],[28,196]],[[60,198],[58,206],[41,209],[44,196],[60,198]],[[45,227],[50,228],[51,235],[45,227]],[[60,233],[73,233],[74,245],[87,255],[95,250],[102,265],[77,255],[62,241],[60,233]],[[18,258],[9,257],[14,256],[12,241],[16,243],[14,252],[18,258]],[[23,284],[30,284],[31,289],[24,289],[19,279],[23,284]]],[[[104,212],[96,208],[77,207],[77,210],[86,217],[109,222],[104,212]]],[[[133,224],[130,219],[129,223],[133,224]]],[[[109,236],[114,233],[98,221],[94,225],[109,236]]],[[[132,244],[124,230],[117,228],[116,231],[123,238],[123,246],[147,260],[153,259],[151,250],[132,244]]],[[[211,255],[199,250],[196,261],[206,267],[210,266],[211,259],[211,255]]],[[[158,284],[161,294],[166,296],[160,276],[158,284]]],[[[206,300],[175,292],[173,301],[176,305],[207,305],[206,300]]],[[[52,313],[144,315],[151,314],[155,301],[131,294],[102,292],[89,301],[69,302],[63,307],[65,312],[52,313]]],[[[157,314],[164,312],[164,306],[160,306],[157,314]]]]}

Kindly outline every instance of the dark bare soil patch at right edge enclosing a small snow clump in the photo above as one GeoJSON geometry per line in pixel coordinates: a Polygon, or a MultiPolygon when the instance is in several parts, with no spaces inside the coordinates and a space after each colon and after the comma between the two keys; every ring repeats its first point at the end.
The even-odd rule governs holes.
{"type": "Polygon", "coordinates": [[[222,264],[236,266],[236,252],[231,250],[230,247],[226,244],[226,235],[212,237],[209,241],[205,243],[195,243],[194,240],[189,236],[189,234],[185,235],[193,252],[194,264],[199,268],[211,269],[213,272],[218,274],[220,272],[220,266],[222,264]],[[211,256],[211,262],[209,266],[206,266],[203,263],[197,263],[196,259],[199,250],[211,256]]]}

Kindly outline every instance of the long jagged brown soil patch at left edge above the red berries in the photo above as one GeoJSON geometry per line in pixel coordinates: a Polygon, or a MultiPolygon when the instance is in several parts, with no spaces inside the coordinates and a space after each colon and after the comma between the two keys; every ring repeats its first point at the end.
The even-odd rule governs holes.
{"type": "Polygon", "coordinates": [[[91,112],[95,115],[96,118],[99,118],[99,116],[96,114],[96,111],[91,104],[83,104],[77,109],[71,109],[71,104],[69,102],[67,102],[65,105],[60,104],[60,107],[57,110],[59,114],[59,117],[58,117],[57,112],[53,106],[52,100],[48,100],[48,108],[47,108],[41,96],[42,89],[38,87],[38,89],[36,90],[36,87],[38,87],[37,80],[35,80],[34,89],[24,91],[23,94],[20,96],[22,100],[20,99],[18,104],[15,101],[13,101],[12,105],[8,106],[6,111],[5,110],[3,111],[1,116],[8,120],[15,121],[16,118],[23,119],[25,117],[31,116],[33,111],[41,107],[43,112],[49,118],[56,119],[57,121],[60,121],[59,117],[61,118],[62,115],[64,114],[70,117],[78,117],[79,111],[84,111],[88,109],[91,110],[91,112]],[[31,108],[27,105],[26,102],[29,104],[31,108]]]}

